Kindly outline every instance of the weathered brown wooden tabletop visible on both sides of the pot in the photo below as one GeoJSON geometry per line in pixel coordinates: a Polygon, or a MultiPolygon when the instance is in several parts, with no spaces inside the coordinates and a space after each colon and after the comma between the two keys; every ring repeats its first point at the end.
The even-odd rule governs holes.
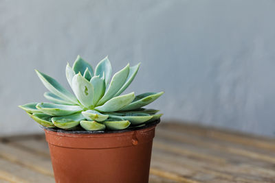
{"type": "MultiPolygon", "coordinates": [[[[275,139],[161,123],[149,182],[275,182],[275,139]]],[[[0,138],[0,182],[54,182],[43,135],[0,138]]]]}

